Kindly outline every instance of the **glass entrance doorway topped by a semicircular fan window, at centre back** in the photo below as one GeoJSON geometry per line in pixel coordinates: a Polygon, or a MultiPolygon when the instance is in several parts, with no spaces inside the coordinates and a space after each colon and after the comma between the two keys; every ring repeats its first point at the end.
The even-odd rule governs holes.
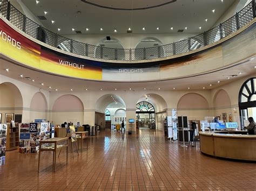
{"type": "Polygon", "coordinates": [[[136,128],[156,129],[156,117],[154,107],[149,102],[139,102],[136,104],[136,128]]]}

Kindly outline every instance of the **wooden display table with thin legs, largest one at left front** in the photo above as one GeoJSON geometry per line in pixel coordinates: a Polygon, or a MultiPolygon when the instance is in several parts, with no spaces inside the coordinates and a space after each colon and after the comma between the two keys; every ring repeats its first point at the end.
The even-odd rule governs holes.
{"type": "Polygon", "coordinates": [[[56,172],[56,153],[59,148],[66,147],[66,164],[68,164],[68,147],[69,147],[69,137],[63,138],[50,138],[46,140],[39,141],[39,156],[38,156],[38,172],[39,172],[39,165],[40,165],[40,155],[42,151],[52,151],[52,171],[56,172]],[[65,143],[63,143],[65,142],[65,143]]]}

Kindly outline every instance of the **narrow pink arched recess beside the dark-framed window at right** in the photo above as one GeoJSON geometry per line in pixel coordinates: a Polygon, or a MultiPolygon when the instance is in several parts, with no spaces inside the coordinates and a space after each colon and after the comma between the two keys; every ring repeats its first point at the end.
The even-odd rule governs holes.
{"type": "Polygon", "coordinates": [[[224,89],[218,90],[213,99],[214,117],[219,116],[224,122],[233,122],[230,96],[224,89]]]}

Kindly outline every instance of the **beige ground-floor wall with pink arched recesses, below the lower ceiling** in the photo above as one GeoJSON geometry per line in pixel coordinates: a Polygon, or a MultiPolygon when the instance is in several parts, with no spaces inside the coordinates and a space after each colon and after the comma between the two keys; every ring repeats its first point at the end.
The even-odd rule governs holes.
{"type": "MultiPolygon", "coordinates": [[[[21,114],[23,114],[23,122],[33,121],[35,118],[43,118],[53,121],[54,124],[61,124],[65,121],[72,121],[74,123],[95,125],[99,119],[96,118],[96,103],[100,97],[106,94],[113,94],[122,97],[126,105],[126,117],[136,119],[135,105],[138,100],[145,94],[156,94],[156,97],[161,97],[166,104],[163,111],[157,111],[156,124],[160,130],[163,126],[158,121],[158,117],[167,115],[171,108],[177,108],[178,115],[188,116],[188,119],[204,119],[204,117],[221,115],[222,112],[232,112],[233,120],[239,122],[238,109],[238,93],[242,83],[250,77],[240,77],[218,88],[211,90],[159,90],[159,91],[136,91],[136,94],[124,91],[73,91],[71,92],[51,92],[42,90],[38,94],[38,88],[30,86],[26,83],[10,79],[9,77],[0,75],[0,108],[1,113],[15,112],[13,109],[6,110],[6,108],[17,108],[23,103],[21,114]],[[10,82],[14,84],[17,90],[21,93],[22,101],[14,101],[14,90],[8,89],[8,86],[3,82],[10,82]],[[35,98],[36,96],[36,98],[35,98]],[[35,104],[35,101],[45,103],[35,104]],[[46,107],[47,106],[47,107],[46,107]],[[45,112],[43,110],[48,108],[45,112]],[[237,112],[234,112],[234,108],[237,112]],[[38,111],[36,109],[42,109],[38,111]]],[[[153,99],[154,96],[152,96],[153,99]]],[[[160,99],[160,100],[161,100],[160,99]]],[[[154,104],[159,104],[158,108],[163,109],[163,103],[159,100],[152,100],[154,104]]],[[[104,121],[104,119],[103,119],[104,121]]],[[[2,120],[3,122],[3,120],[2,120]]],[[[127,123],[127,121],[126,121],[127,123]]],[[[135,129],[135,126],[132,126],[135,129]]]]}

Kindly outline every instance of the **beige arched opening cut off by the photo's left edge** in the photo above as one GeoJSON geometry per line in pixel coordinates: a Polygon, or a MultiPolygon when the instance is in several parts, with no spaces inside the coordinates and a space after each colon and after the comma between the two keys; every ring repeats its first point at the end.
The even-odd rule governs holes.
{"type": "Polygon", "coordinates": [[[22,122],[23,98],[15,84],[4,82],[0,84],[0,123],[22,122]]]}

